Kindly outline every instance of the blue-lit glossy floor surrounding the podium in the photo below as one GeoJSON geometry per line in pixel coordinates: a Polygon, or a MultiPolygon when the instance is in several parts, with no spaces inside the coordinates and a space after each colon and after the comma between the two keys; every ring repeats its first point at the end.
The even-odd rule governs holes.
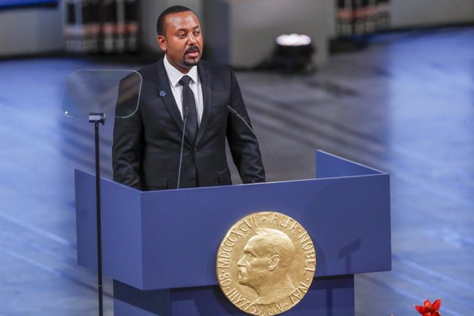
{"type": "MultiPolygon", "coordinates": [[[[93,171],[93,126],[61,112],[67,74],[93,67],[104,65],[0,62],[1,316],[97,314],[95,276],[76,264],[73,186],[74,168],[93,171]]],[[[418,315],[438,297],[443,316],[471,315],[474,29],[379,36],[307,76],[237,76],[253,126],[296,179],[314,177],[315,149],[391,174],[393,270],[357,276],[357,315],[418,315]]],[[[101,143],[111,177],[110,121],[101,143]]],[[[263,155],[268,180],[286,179],[263,155]]],[[[105,292],[113,315],[109,280],[105,292]]]]}

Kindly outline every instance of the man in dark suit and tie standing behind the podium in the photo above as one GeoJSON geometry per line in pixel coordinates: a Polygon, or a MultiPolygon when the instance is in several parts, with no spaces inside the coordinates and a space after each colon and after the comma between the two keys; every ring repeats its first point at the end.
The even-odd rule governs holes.
{"type": "MultiPolygon", "coordinates": [[[[135,114],[115,119],[113,179],[140,190],[177,188],[186,117],[180,188],[232,184],[226,137],[242,182],[263,182],[258,141],[227,109],[232,106],[249,123],[234,72],[200,60],[199,19],[174,6],[159,16],[157,32],[166,55],[139,70],[142,90],[135,114]]],[[[122,82],[120,94],[125,86],[122,82]]]]}

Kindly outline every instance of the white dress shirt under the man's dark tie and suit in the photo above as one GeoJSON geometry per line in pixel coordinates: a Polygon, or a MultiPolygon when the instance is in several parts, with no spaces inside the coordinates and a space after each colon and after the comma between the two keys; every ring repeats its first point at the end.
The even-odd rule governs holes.
{"type": "Polygon", "coordinates": [[[181,112],[181,117],[183,117],[183,86],[179,83],[179,80],[183,76],[190,76],[190,88],[192,93],[194,93],[194,100],[196,101],[196,111],[198,115],[198,124],[201,124],[201,117],[203,117],[204,101],[203,101],[203,89],[201,87],[201,80],[199,80],[199,75],[197,73],[197,67],[193,66],[188,74],[183,74],[178,69],[174,68],[168,61],[168,57],[165,55],[163,59],[165,65],[166,74],[168,75],[168,80],[170,80],[171,91],[176,100],[179,112],[181,112]]]}

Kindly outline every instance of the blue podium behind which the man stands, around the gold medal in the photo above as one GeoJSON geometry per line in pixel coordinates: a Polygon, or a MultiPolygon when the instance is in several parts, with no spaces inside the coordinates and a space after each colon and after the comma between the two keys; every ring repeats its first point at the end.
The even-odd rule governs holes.
{"type": "MultiPolygon", "coordinates": [[[[316,179],[142,192],[101,179],[102,271],[114,314],[245,315],[221,293],[216,253],[253,212],[301,223],[315,244],[315,279],[284,315],[354,315],[354,274],[391,269],[390,177],[316,152],[316,179]]],[[[76,170],[78,264],[97,269],[95,177],[76,170]]]]}

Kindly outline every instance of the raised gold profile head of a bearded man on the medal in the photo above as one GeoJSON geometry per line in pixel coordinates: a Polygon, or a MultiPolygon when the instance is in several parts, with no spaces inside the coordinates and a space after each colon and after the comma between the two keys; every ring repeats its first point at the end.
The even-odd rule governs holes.
{"type": "Polygon", "coordinates": [[[293,242],[283,232],[255,230],[237,262],[238,283],[256,291],[255,304],[280,302],[295,291],[289,275],[295,253],[293,242]]]}

